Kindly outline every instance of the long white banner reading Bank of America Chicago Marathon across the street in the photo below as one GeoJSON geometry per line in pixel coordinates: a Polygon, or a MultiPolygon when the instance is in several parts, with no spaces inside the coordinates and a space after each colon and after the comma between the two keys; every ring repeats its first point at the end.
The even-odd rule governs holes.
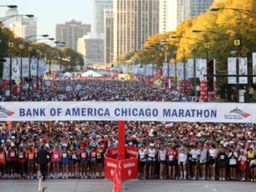
{"type": "Polygon", "coordinates": [[[190,121],[255,123],[256,104],[175,102],[2,102],[1,121],[190,121]]]}

